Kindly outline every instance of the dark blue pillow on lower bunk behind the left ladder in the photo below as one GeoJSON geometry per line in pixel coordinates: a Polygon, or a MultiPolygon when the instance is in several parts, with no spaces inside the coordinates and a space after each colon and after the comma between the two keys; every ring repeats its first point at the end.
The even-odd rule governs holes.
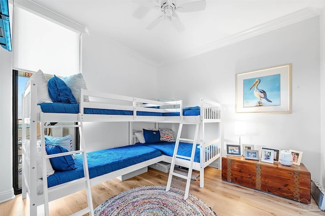
{"type": "MultiPolygon", "coordinates": [[[[48,143],[45,143],[45,149],[48,155],[69,152],[66,148],[63,148],[60,145],[52,145],[48,143]]],[[[71,155],[50,158],[50,162],[55,171],[66,171],[76,169],[75,161],[73,160],[71,155]]]]}

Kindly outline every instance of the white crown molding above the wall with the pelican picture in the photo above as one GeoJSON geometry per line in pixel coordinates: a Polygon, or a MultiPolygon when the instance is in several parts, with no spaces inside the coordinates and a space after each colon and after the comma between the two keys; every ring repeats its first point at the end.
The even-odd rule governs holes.
{"type": "Polygon", "coordinates": [[[212,50],[216,50],[218,48],[224,47],[224,46],[228,46],[249,38],[253,38],[257,35],[263,34],[263,33],[267,33],[270,31],[273,31],[275,29],[279,29],[297,22],[301,22],[303,20],[307,20],[309,18],[315,17],[315,16],[319,16],[320,15],[320,11],[319,10],[314,10],[311,8],[306,8],[300,11],[297,11],[295,13],[280,17],[278,19],[272,20],[270,22],[255,26],[253,28],[238,32],[234,35],[231,35],[227,38],[215,41],[213,43],[210,43],[208,45],[202,46],[199,49],[196,50],[192,50],[189,52],[184,52],[182,55],[173,58],[173,59],[165,59],[163,62],[158,63],[157,67],[162,67],[162,66],[166,66],[169,64],[173,64],[176,63],[178,61],[184,60],[184,59],[188,59],[194,56],[198,56],[201,55],[203,53],[207,53],[210,52],[212,50]]]}

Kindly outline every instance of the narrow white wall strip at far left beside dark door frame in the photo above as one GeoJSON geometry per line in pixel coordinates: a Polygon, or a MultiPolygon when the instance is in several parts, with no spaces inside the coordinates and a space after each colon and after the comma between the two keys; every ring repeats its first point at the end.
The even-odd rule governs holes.
{"type": "Polygon", "coordinates": [[[0,202],[15,197],[12,185],[12,52],[0,47],[0,202]],[[6,104],[6,105],[4,105],[6,104]]]}

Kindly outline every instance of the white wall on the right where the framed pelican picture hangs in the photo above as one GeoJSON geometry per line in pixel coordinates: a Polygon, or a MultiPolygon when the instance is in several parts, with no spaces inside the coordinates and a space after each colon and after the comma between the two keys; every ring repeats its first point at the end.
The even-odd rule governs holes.
{"type": "Polygon", "coordinates": [[[185,106],[200,97],[220,102],[223,141],[238,143],[234,121],[246,120],[242,143],[302,151],[302,163],[319,179],[319,64],[315,17],[158,68],[158,96],[183,99],[185,106]],[[235,114],[235,75],[286,63],[293,64],[292,114],[235,114]]]}

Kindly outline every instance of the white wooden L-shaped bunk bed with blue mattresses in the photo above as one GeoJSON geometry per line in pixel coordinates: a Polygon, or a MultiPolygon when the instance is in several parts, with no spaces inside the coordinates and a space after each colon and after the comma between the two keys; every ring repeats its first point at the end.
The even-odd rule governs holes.
{"type": "MultiPolygon", "coordinates": [[[[200,124],[199,159],[194,161],[193,169],[200,170],[201,187],[204,167],[220,157],[221,107],[216,102],[202,98],[197,109],[183,109],[182,100],[161,102],[79,89],[79,103],[40,103],[41,85],[39,81],[31,79],[22,98],[22,198],[29,197],[30,215],[37,215],[37,206],[42,204],[45,204],[45,213],[48,214],[48,202],[85,188],[88,208],[80,213],[89,212],[92,215],[91,186],[159,161],[171,162],[170,155],[153,146],[131,145],[134,143],[132,122],[200,124]],[[44,133],[41,133],[39,140],[38,125],[41,131],[51,127],[67,127],[47,125],[51,122],[71,123],[71,127],[79,128],[80,150],[66,151],[60,146],[49,145],[51,143],[46,142],[44,133]],[[84,122],[130,122],[129,143],[124,147],[85,152],[84,122]],[[218,124],[216,139],[204,140],[206,123],[218,124]],[[127,154],[130,152],[132,154],[127,154]],[[53,166],[55,159],[63,159],[67,166],[57,168],[55,162],[53,166]],[[49,167],[54,168],[53,171],[49,167]],[[39,173],[42,173],[41,176],[39,173]]],[[[168,144],[172,145],[172,142],[168,144]]]]}

